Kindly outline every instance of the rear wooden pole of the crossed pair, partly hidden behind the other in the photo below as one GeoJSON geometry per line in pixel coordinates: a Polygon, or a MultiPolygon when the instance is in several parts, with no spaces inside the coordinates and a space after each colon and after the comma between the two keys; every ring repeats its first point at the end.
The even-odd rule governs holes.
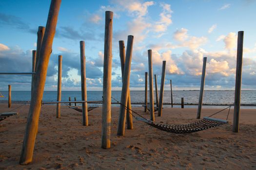
{"type": "MultiPolygon", "coordinates": [[[[124,70],[124,64],[125,64],[125,46],[124,41],[119,41],[119,56],[121,61],[121,72],[122,72],[122,78],[123,78],[123,70],[124,70]]],[[[128,92],[128,102],[127,102],[127,129],[133,129],[133,116],[131,114],[132,110],[132,104],[131,104],[131,96],[130,96],[130,89],[128,92]]]]}

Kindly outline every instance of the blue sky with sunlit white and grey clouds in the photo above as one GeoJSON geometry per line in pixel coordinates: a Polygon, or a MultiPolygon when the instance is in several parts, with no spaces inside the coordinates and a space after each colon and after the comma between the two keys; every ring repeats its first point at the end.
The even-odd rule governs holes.
{"type": "MultiPolygon", "coordinates": [[[[50,0],[0,1],[0,72],[31,71],[38,26],[45,26],[50,0]]],[[[234,89],[237,32],[244,31],[242,89],[256,89],[255,0],[62,0],[45,90],[57,89],[58,55],[63,56],[62,90],[80,90],[79,41],[85,41],[87,89],[101,90],[104,14],[114,12],[112,87],[121,89],[118,40],[134,35],[130,87],[144,89],[147,50],[165,87],[199,89],[207,57],[205,89],[234,89]]],[[[0,75],[0,90],[30,90],[30,76],[0,75]]],[[[159,87],[159,85],[158,85],[159,87]]]]}

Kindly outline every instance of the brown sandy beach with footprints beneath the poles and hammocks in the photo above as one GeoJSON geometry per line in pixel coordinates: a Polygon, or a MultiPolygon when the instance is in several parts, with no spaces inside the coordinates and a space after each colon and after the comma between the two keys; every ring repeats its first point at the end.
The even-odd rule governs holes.
{"type": "MultiPolygon", "coordinates": [[[[0,103],[0,113],[9,112],[0,103]]],[[[90,111],[89,126],[82,126],[81,113],[61,107],[56,118],[55,105],[42,105],[39,132],[33,161],[19,165],[21,146],[29,105],[17,110],[19,115],[0,121],[0,170],[84,170],[84,169],[166,169],[166,170],[255,170],[256,169],[256,109],[242,109],[240,132],[232,132],[233,109],[229,124],[192,133],[171,134],[133,120],[134,129],[117,136],[119,107],[112,107],[111,148],[101,149],[100,107],[90,111]]],[[[133,108],[146,118],[142,107],[133,108]]],[[[221,109],[202,109],[209,116],[221,109]]],[[[195,108],[164,108],[156,122],[186,124],[196,118],[195,108]]],[[[227,110],[215,118],[225,119],[227,110]]]]}

